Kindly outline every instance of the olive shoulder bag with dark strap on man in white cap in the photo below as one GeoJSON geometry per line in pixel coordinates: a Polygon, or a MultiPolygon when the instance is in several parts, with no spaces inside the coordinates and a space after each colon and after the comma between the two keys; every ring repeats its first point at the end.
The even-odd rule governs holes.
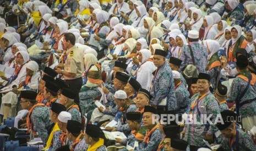
{"type": "Polygon", "coordinates": [[[181,72],[181,74],[183,75],[184,79],[186,80],[188,86],[190,87],[191,83],[192,83],[192,78],[198,78],[198,69],[195,66],[195,58],[193,55],[193,51],[192,51],[192,47],[191,45],[188,45],[189,51],[190,51],[190,55],[192,57],[192,61],[193,64],[192,65],[187,65],[186,67],[183,68],[183,71],[181,72]]]}

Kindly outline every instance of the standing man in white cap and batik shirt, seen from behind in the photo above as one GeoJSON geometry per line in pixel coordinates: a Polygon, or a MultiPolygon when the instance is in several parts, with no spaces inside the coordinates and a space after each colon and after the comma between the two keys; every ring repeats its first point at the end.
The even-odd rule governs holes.
{"type": "Polygon", "coordinates": [[[198,31],[189,31],[188,32],[188,42],[189,45],[184,45],[184,49],[181,51],[181,55],[179,56],[179,59],[182,60],[181,63],[181,71],[184,67],[187,65],[192,65],[192,56],[190,53],[190,48],[192,49],[194,60],[195,60],[195,66],[198,69],[199,73],[205,73],[205,67],[208,62],[208,51],[204,47],[204,45],[199,44],[199,32],[198,31]]]}

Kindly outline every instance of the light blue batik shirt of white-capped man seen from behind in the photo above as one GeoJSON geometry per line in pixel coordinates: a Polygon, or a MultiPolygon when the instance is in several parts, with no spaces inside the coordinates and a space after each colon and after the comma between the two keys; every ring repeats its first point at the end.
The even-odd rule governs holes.
{"type": "MultiPolygon", "coordinates": [[[[191,42],[189,43],[192,48],[192,52],[195,59],[195,66],[198,69],[198,72],[205,73],[205,67],[208,61],[208,51],[204,47],[204,45],[199,44],[198,42],[191,42]]],[[[181,55],[179,59],[182,60],[180,69],[183,69],[187,65],[192,65],[192,57],[190,55],[190,50],[188,45],[184,45],[184,48],[181,50],[181,55]]]]}

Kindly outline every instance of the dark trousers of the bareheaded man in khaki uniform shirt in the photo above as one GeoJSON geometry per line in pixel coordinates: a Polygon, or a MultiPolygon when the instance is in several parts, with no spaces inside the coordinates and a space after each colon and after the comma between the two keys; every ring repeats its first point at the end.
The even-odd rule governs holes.
{"type": "Polygon", "coordinates": [[[77,78],[72,80],[65,80],[65,82],[69,88],[75,92],[74,102],[79,105],[79,91],[83,85],[83,79],[77,78]]]}

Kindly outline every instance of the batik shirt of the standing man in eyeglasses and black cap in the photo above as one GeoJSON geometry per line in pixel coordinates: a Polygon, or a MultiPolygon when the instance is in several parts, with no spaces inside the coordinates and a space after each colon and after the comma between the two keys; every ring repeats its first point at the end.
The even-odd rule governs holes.
{"type": "MultiPolygon", "coordinates": [[[[192,98],[190,99],[192,100],[191,106],[193,106],[193,104],[198,99],[199,99],[199,93],[192,96],[192,98]]],[[[198,110],[202,117],[203,117],[203,114],[206,114],[207,117],[211,115],[210,120],[211,120],[211,123],[214,124],[217,114],[220,114],[220,108],[219,108],[219,103],[217,102],[214,95],[210,93],[210,91],[208,91],[206,96],[201,98],[201,100],[199,101],[198,110]]],[[[206,127],[206,125],[204,125],[204,123],[200,124],[201,119],[200,119],[198,110],[197,110],[197,106],[195,106],[193,109],[189,108],[189,114],[192,115],[192,118],[190,118],[191,124],[185,125],[183,130],[186,133],[183,140],[187,141],[189,145],[205,146],[205,143],[203,140],[205,140],[206,133],[208,133],[209,135],[213,135],[213,133],[215,133],[217,130],[214,125],[209,125],[208,126],[209,130],[208,130],[208,128],[206,127]],[[196,119],[194,119],[195,116],[196,116],[196,119]],[[198,124],[195,123],[195,121],[197,121],[198,124]]]]}

